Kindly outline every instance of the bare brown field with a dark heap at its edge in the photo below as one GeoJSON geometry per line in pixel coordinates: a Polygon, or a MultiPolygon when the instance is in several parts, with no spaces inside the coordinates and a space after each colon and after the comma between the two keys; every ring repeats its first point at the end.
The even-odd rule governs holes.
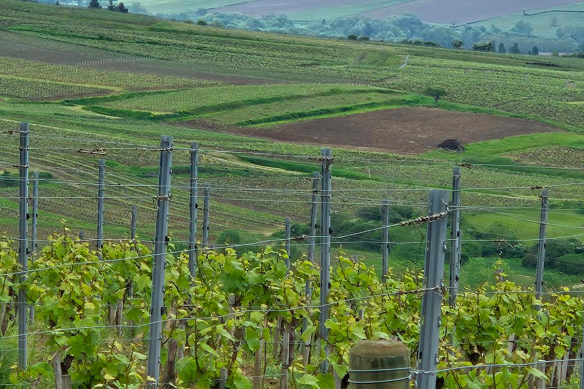
{"type": "Polygon", "coordinates": [[[436,149],[439,143],[449,138],[460,139],[464,145],[506,136],[559,131],[558,128],[531,120],[433,108],[373,111],[298,121],[272,128],[242,128],[196,120],[179,125],[259,136],[274,141],[352,146],[397,153],[423,153],[436,149]]]}

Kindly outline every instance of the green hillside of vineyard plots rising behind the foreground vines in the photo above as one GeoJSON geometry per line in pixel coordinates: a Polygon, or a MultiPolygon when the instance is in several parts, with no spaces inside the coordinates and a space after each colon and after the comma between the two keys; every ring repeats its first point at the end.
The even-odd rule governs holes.
{"type": "MultiPolygon", "coordinates": [[[[451,168],[462,163],[462,198],[468,207],[463,226],[470,240],[463,269],[484,267],[478,275],[464,275],[463,282],[488,279],[493,255],[503,257],[515,281],[533,282],[533,269],[523,267],[521,257],[505,257],[499,247],[480,251],[479,237],[493,234],[502,223],[501,236],[492,240],[523,240],[529,250],[537,237],[541,187],[552,193],[548,236],[584,241],[580,59],[252,33],[9,0],[0,0],[0,37],[0,170],[8,174],[0,183],[10,183],[6,177],[16,173],[18,139],[10,131],[18,121],[29,121],[31,169],[52,177],[40,183],[42,239],[62,230],[62,219],[74,232],[95,236],[99,157],[107,161],[106,237],[124,237],[128,210],[138,205],[138,233],[151,239],[161,135],[174,136],[176,145],[170,220],[176,244],[184,246],[187,239],[192,141],[201,148],[199,183],[212,187],[211,240],[226,229],[237,230],[248,242],[271,239],[281,234],[286,216],[305,228],[309,178],[319,170],[315,159],[326,145],[316,135],[309,144],[277,141],[261,131],[277,134],[288,130],[273,128],[295,122],[317,129],[317,118],[344,120],[377,111],[391,117],[397,108],[424,107],[470,115],[464,129],[469,134],[473,120],[492,115],[536,120],[563,131],[503,139],[482,134],[460,153],[434,146],[406,154],[375,142],[367,148],[333,144],[333,220],[339,231],[378,226],[384,198],[412,217],[423,215],[427,190],[449,188],[451,168]],[[407,64],[400,66],[406,57],[407,64]],[[566,87],[567,80],[576,87],[566,87]],[[442,87],[447,95],[434,103],[427,87],[442,87]],[[259,132],[246,135],[252,130],[259,132]]],[[[361,131],[381,131],[376,121],[364,126],[361,131]]],[[[392,134],[404,141],[400,131],[392,134]]],[[[0,185],[0,194],[2,232],[13,237],[18,188],[0,185]]],[[[423,234],[415,227],[392,230],[395,268],[422,263],[423,244],[412,242],[423,241],[423,234]]],[[[379,239],[365,234],[345,240],[342,250],[379,270],[379,239]]],[[[304,249],[298,244],[297,255],[304,249]]],[[[550,285],[579,282],[579,275],[558,271],[550,269],[550,285]]]]}

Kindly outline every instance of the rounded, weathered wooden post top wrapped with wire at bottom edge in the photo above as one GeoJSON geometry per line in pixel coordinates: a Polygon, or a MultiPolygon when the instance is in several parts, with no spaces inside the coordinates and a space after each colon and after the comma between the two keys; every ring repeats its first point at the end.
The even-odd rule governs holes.
{"type": "Polygon", "coordinates": [[[360,341],[349,352],[351,389],[408,389],[410,352],[399,341],[360,341]]]}

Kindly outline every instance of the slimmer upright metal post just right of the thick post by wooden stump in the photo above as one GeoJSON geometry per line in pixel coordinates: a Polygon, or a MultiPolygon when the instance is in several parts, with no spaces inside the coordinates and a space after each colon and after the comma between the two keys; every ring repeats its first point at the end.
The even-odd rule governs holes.
{"type": "Polygon", "coordinates": [[[450,283],[448,303],[456,307],[458,280],[460,279],[461,238],[460,231],[460,167],[452,169],[452,221],[450,225],[450,283]]]}

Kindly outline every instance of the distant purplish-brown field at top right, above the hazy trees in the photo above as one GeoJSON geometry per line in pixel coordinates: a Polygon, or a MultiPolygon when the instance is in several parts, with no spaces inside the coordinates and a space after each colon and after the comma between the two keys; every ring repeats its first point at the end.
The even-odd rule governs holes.
{"type": "Polygon", "coordinates": [[[554,8],[578,3],[576,0],[413,0],[366,12],[365,15],[383,19],[391,15],[415,13],[427,23],[465,23],[489,19],[509,13],[554,8]]]}

